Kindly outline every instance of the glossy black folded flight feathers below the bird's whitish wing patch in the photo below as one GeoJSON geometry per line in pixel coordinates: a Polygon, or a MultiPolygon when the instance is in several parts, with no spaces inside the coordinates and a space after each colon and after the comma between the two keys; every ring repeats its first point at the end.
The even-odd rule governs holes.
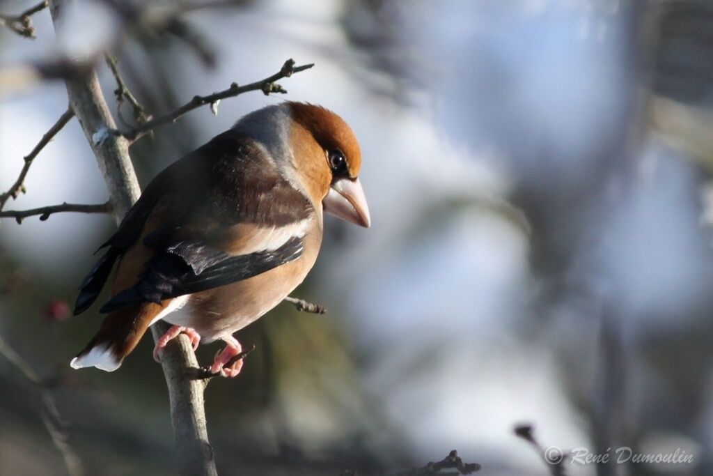
{"type": "Polygon", "coordinates": [[[302,240],[293,237],[277,250],[231,256],[202,243],[183,241],[155,255],[139,282],[115,295],[99,312],[160,303],[252,278],[299,258],[303,248],[302,240]]]}

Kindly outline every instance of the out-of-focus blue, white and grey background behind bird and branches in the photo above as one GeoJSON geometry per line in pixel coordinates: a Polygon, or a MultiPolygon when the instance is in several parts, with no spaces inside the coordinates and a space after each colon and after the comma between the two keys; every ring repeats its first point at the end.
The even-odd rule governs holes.
{"type": "MultiPolygon", "coordinates": [[[[184,9],[198,43],[128,28],[121,2],[75,1],[57,32],[41,11],[34,41],[0,28],[0,71],[108,48],[158,115],[288,58],[316,64],[280,82],[286,96],[230,98],[135,143],[143,185],[285,99],[331,108],[359,137],[372,227],[327,218],[293,293],[327,315],[282,304],[238,333],[257,350],[206,392],[220,474],[381,474],[455,448],[483,475],[548,475],[513,432],[523,422],[565,452],[692,455],[566,463],[569,475],[713,473],[713,4],[211,3],[140,4],[184,9]]],[[[119,116],[98,69],[128,128],[130,106],[119,116]]],[[[1,191],[67,106],[60,80],[21,86],[0,90],[1,191]]],[[[25,185],[5,210],[108,197],[76,119],[25,185]]],[[[113,228],[102,215],[3,219],[0,338],[47,383],[86,474],[170,475],[150,338],[116,373],[68,367],[101,317],[66,306],[113,228]]],[[[37,389],[0,356],[0,474],[66,474],[43,418],[37,389]]]]}

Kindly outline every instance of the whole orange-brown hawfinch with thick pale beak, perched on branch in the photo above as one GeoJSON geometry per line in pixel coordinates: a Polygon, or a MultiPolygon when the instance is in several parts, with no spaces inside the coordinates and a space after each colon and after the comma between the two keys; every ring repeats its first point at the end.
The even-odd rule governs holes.
{"type": "Polygon", "coordinates": [[[148,327],[172,324],[154,350],[185,333],[224,340],[212,373],[235,376],[233,333],[302,283],[322,243],[322,211],[364,227],[361,152],[332,111],[285,102],[254,111],[158,174],[102,248],[84,279],[75,314],[118,270],[101,328],[73,368],[111,372],[148,327]]]}

